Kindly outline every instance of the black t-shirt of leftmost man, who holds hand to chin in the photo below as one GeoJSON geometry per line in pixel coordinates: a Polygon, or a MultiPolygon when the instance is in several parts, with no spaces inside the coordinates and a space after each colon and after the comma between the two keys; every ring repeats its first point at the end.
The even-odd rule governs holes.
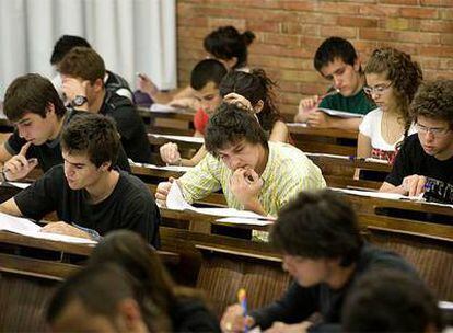
{"type": "MultiPolygon", "coordinates": [[[[80,111],[69,110],[63,119],[63,127],[66,127],[69,122],[77,115],[80,114],[80,111]]],[[[26,143],[26,140],[19,136],[18,129],[14,129],[14,133],[10,136],[8,141],[4,142],[4,148],[12,156],[18,154],[21,151],[22,146],[26,143]]],[[[61,156],[61,147],[60,147],[60,136],[51,141],[44,142],[43,145],[30,146],[26,158],[32,159],[36,158],[38,160],[40,169],[44,172],[49,170],[54,165],[58,165],[63,163],[63,159],[61,156]]],[[[119,148],[118,152],[118,160],[116,162],[116,166],[119,166],[121,170],[130,172],[130,164],[127,160],[126,152],[124,151],[123,147],[119,148]]]]}

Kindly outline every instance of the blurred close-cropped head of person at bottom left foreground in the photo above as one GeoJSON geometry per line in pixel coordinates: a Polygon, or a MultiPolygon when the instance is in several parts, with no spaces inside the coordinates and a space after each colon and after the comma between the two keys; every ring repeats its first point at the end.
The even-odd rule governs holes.
{"type": "Polygon", "coordinates": [[[82,268],[58,287],[46,322],[51,332],[169,332],[165,313],[138,285],[112,263],[82,268]]]}

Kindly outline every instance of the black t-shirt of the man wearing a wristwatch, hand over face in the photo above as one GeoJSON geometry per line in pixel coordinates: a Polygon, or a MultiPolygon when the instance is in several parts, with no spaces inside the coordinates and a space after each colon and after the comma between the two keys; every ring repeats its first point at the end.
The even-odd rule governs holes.
{"type": "Polygon", "coordinates": [[[135,162],[149,163],[151,161],[151,146],[143,120],[127,97],[106,91],[100,114],[115,119],[128,158],[135,162]]]}

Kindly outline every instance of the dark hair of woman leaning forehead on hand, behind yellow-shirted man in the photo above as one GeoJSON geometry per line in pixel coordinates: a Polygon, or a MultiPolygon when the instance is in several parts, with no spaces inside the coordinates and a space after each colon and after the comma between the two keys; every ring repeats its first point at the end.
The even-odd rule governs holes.
{"type": "Polygon", "coordinates": [[[231,92],[239,93],[254,106],[263,101],[263,110],[257,114],[259,124],[265,130],[272,130],[274,124],[281,119],[275,104],[274,89],[277,84],[260,69],[251,72],[230,71],[220,82],[219,92],[222,97],[231,92]]]}

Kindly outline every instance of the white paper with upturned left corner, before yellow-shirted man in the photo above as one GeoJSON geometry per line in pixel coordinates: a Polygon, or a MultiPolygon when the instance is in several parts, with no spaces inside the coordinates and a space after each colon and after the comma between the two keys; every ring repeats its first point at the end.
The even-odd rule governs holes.
{"type": "Polygon", "coordinates": [[[197,208],[186,202],[176,182],[173,182],[170,187],[169,195],[166,196],[166,207],[175,210],[191,210],[204,215],[213,215],[220,217],[241,217],[241,218],[255,218],[267,219],[265,216],[249,211],[237,210],[234,208],[197,208]]]}

